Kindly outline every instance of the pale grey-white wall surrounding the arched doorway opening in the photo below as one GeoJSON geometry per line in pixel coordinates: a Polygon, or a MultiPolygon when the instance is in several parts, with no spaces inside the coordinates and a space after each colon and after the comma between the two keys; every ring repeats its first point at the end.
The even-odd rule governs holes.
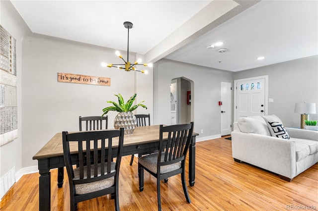
{"type": "MultiPolygon", "coordinates": [[[[154,65],[154,124],[170,124],[171,79],[184,77],[191,81],[191,120],[198,140],[221,134],[221,81],[232,83],[232,72],[161,59],[154,65]]],[[[184,102],[186,104],[186,102],[184,102]]]]}

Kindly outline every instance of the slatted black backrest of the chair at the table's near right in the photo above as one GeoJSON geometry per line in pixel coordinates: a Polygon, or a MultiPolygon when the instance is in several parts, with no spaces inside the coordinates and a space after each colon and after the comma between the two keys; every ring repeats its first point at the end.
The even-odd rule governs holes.
{"type": "Polygon", "coordinates": [[[190,124],[160,125],[158,168],[180,160],[184,160],[193,133],[193,122],[190,124]],[[163,133],[167,133],[167,145],[163,146],[163,133]],[[162,152],[164,155],[162,155],[162,152]],[[164,156],[161,161],[161,156],[164,156]]]}

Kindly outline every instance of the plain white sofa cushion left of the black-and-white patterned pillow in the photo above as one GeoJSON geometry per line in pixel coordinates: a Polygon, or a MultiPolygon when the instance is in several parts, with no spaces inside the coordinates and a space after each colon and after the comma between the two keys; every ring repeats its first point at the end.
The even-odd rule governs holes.
{"type": "Polygon", "coordinates": [[[243,133],[271,136],[267,124],[261,116],[240,117],[238,126],[243,133]]]}

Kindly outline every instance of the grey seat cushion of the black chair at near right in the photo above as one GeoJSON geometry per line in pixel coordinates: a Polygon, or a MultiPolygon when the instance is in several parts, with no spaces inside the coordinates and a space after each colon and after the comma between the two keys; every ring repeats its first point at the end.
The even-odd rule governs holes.
{"type": "MultiPolygon", "coordinates": [[[[148,155],[148,156],[143,156],[138,159],[138,162],[145,166],[147,169],[150,171],[157,173],[157,161],[158,161],[158,153],[148,155]]],[[[161,162],[164,161],[164,157],[161,156],[161,162]]],[[[160,174],[164,174],[170,171],[174,171],[176,169],[181,168],[181,161],[170,164],[170,165],[163,165],[160,166],[160,174]]]]}

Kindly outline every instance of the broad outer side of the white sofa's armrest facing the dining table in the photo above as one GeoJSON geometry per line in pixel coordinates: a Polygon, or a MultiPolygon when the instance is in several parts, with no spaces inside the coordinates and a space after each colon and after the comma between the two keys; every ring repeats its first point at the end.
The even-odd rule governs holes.
{"type": "Polygon", "coordinates": [[[232,156],[282,176],[296,176],[295,142],[253,133],[233,131],[232,156]]]}

